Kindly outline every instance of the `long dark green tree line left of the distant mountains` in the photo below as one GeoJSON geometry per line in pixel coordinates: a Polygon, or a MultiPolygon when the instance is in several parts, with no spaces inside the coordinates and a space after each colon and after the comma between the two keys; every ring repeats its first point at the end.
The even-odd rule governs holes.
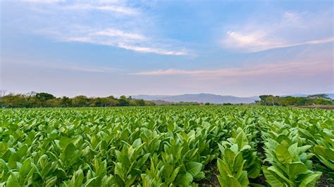
{"type": "Polygon", "coordinates": [[[45,107],[110,107],[110,106],[147,106],[155,105],[152,101],[131,98],[131,96],[87,97],[66,96],[57,98],[51,93],[30,92],[26,94],[1,94],[0,106],[6,108],[45,108],[45,107]]]}

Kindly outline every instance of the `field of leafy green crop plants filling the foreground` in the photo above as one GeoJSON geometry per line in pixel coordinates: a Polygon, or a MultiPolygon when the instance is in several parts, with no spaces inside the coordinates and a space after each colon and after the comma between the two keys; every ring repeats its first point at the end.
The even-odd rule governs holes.
{"type": "Polygon", "coordinates": [[[0,186],[321,186],[333,124],[265,106],[1,109],[0,186]]]}

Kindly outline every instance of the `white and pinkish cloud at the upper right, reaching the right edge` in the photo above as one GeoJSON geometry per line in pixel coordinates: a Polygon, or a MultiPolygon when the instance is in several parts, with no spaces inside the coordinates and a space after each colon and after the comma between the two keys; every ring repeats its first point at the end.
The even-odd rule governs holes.
{"type": "Polygon", "coordinates": [[[326,44],[334,41],[331,20],[331,14],[327,12],[316,15],[285,12],[280,20],[268,23],[259,18],[239,26],[239,29],[225,32],[221,44],[226,49],[242,52],[326,44]],[[314,39],[319,30],[325,30],[327,37],[314,39]]]}

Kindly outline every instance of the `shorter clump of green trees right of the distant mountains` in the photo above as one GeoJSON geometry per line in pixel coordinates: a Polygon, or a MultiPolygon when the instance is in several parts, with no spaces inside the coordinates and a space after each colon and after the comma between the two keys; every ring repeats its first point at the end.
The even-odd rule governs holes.
{"type": "Polygon", "coordinates": [[[304,105],[333,105],[334,102],[326,94],[316,94],[307,97],[293,97],[293,96],[259,96],[261,101],[256,101],[260,105],[280,105],[280,106],[304,106],[304,105]]]}

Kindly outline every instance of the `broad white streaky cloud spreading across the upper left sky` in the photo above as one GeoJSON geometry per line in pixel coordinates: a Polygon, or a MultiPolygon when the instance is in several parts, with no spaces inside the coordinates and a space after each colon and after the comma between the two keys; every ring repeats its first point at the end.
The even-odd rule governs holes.
{"type": "Polygon", "coordinates": [[[28,24],[25,31],[30,29],[35,34],[58,41],[113,46],[137,53],[190,55],[179,41],[156,34],[155,23],[149,13],[127,1],[66,1],[63,4],[44,4],[59,0],[30,2],[41,4],[27,6],[30,19],[20,20],[24,24],[32,24],[28,24]]]}

